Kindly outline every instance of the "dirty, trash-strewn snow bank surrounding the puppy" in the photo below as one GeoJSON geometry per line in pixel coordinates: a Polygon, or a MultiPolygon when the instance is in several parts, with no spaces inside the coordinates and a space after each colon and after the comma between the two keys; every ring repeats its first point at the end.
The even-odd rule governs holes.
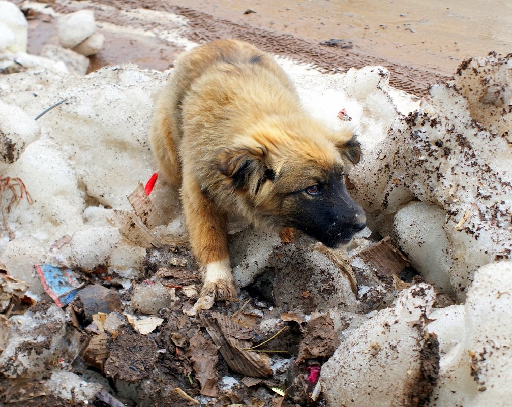
{"type": "Polygon", "coordinates": [[[201,282],[178,192],[141,184],[168,72],[75,76],[59,50],[14,70],[24,51],[0,49],[17,72],[0,76],[3,190],[18,179],[33,201],[1,202],[0,402],[508,403],[510,56],[465,61],[421,106],[381,67],[323,76],[280,59],[314,115],[361,132],[349,181],[371,230],[331,250],[233,219],[240,296],[190,315],[201,282]]]}

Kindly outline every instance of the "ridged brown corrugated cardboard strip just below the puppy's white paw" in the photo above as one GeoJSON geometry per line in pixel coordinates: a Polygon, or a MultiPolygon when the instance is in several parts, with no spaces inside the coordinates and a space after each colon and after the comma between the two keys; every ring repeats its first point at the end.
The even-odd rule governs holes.
{"type": "Polygon", "coordinates": [[[221,355],[233,371],[254,377],[272,375],[270,357],[260,352],[245,351],[244,349],[252,346],[252,342],[236,338],[243,329],[240,325],[218,312],[209,315],[202,312],[200,318],[211,340],[220,347],[221,355]]]}

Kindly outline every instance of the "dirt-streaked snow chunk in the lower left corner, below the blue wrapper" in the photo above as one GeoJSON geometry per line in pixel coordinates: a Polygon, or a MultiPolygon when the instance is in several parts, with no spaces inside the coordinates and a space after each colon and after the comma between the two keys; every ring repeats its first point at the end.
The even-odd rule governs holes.
{"type": "Polygon", "coordinates": [[[37,377],[52,366],[66,334],[66,316],[55,304],[9,318],[11,331],[0,355],[0,373],[7,377],[37,377]]]}

